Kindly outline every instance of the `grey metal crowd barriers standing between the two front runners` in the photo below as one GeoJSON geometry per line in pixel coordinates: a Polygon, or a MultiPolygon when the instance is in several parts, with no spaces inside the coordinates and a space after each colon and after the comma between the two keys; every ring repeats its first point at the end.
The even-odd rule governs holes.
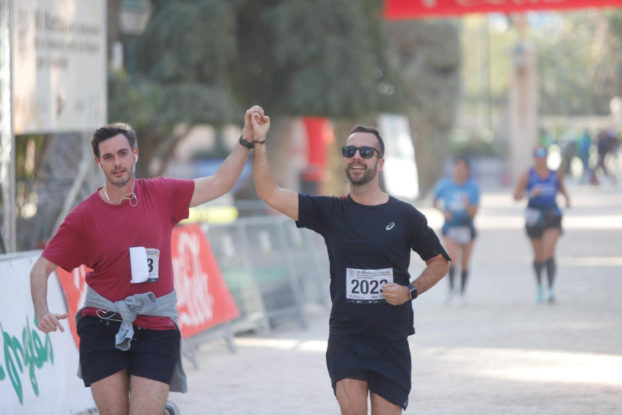
{"type": "Polygon", "coordinates": [[[315,232],[298,229],[282,215],[243,217],[203,229],[241,313],[234,332],[265,333],[284,320],[306,328],[306,305],[330,308],[328,255],[315,232]]]}

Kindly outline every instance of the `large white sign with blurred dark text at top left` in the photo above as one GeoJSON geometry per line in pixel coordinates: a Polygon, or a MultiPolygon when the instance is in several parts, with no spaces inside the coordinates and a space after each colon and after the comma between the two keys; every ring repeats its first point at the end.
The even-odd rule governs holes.
{"type": "Polygon", "coordinates": [[[106,123],[106,1],[13,0],[17,135],[106,123]]]}

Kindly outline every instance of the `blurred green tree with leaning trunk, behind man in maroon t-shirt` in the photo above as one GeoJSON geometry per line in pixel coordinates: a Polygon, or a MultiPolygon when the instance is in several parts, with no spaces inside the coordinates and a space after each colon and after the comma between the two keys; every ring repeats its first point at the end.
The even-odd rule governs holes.
{"type": "Polygon", "coordinates": [[[152,3],[149,25],[137,40],[136,79],[132,83],[127,74],[111,74],[108,88],[109,120],[135,128],[141,148],[137,169],[143,177],[164,171],[192,125],[218,128],[243,116],[230,76],[237,53],[231,4],[152,3]]]}

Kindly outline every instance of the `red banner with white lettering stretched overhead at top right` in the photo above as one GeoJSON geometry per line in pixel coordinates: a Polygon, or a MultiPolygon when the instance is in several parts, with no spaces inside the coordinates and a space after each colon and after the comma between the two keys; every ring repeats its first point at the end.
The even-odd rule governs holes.
{"type": "Polygon", "coordinates": [[[521,12],[586,7],[622,7],[622,0],[385,0],[388,20],[466,13],[521,12]]]}

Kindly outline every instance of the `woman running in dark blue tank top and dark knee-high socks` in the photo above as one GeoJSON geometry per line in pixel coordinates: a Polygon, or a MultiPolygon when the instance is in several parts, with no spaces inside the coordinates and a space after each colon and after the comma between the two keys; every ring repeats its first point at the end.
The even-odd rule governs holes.
{"type": "Polygon", "coordinates": [[[566,206],[570,207],[570,197],[564,188],[562,175],[559,171],[550,170],[546,160],[546,149],[537,147],[534,151],[534,166],[521,176],[514,191],[516,201],[526,195],[529,198],[525,211],[525,228],[534,249],[534,270],[538,284],[536,302],[542,302],[544,267],[549,282],[549,302],[555,300],[555,246],[562,234],[562,211],[557,206],[557,193],[564,195],[566,206]]]}

